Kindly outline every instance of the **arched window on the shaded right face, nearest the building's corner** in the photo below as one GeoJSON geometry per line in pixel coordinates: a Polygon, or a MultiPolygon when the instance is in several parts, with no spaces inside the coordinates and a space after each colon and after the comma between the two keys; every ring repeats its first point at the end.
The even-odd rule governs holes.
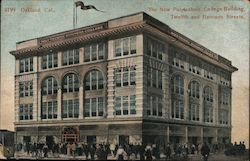
{"type": "Polygon", "coordinates": [[[171,80],[171,93],[172,94],[184,94],[184,81],[180,75],[176,75],[171,80]]]}

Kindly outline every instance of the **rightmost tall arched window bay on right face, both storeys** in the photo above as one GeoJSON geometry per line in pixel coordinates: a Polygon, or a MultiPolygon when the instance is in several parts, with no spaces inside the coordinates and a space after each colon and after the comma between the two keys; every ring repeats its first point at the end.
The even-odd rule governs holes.
{"type": "Polygon", "coordinates": [[[204,122],[213,122],[213,90],[211,87],[204,88],[204,122]]]}

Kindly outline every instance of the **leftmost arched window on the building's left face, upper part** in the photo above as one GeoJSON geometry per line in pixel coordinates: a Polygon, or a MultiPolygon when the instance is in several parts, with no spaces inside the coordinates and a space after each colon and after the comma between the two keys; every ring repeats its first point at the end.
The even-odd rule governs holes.
{"type": "Polygon", "coordinates": [[[54,77],[47,77],[42,82],[42,95],[51,95],[57,93],[57,81],[54,77]]]}

